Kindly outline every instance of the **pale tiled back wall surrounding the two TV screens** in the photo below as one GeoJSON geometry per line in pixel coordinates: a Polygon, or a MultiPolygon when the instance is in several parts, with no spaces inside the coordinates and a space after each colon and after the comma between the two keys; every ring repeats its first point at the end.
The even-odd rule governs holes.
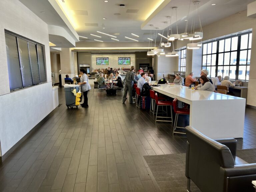
{"type": "Polygon", "coordinates": [[[118,67],[126,67],[130,68],[132,65],[136,67],[135,62],[135,53],[120,53],[120,54],[91,54],[91,67],[95,68],[118,68],[118,67]],[[109,65],[96,65],[97,57],[108,57],[109,65]],[[118,65],[118,57],[131,57],[131,65],[118,65]]]}

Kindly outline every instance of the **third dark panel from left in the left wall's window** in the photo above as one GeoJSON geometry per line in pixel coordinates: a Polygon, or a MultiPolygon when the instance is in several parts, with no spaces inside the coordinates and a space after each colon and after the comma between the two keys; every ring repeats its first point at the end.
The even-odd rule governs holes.
{"type": "Polygon", "coordinates": [[[40,83],[39,67],[36,54],[36,44],[28,41],[28,52],[32,72],[33,85],[40,83]]]}

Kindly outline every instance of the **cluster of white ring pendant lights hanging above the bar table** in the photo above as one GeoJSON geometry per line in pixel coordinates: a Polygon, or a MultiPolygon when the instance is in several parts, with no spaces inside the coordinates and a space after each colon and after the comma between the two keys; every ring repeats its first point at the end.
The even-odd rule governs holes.
{"type": "MultiPolygon", "coordinates": [[[[185,27],[185,32],[179,34],[178,33],[178,16],[177,16],[177,8],[178,7],[172,7],[172,16],[173,13],[175,11],[176,14],[176,30],[177,33],[173,34],[172,33],[172,26],[171,26],[171,19],[172,16],[168,16],[167,18],[170,19],[170,27],[169,29],[167,29],[167,37],[164,36],[164,30],[163,33],[157,33],[159,36],[161,36],[161,41],[159,44],[159,47],[171,47],[171,42],[169,41],[175,41],[175,40],[181,40],[183,41],[184,39],[189,40],[190,42],[187,44],[187,49],[200,49],[202,47],[202,41],[200,41],[199,43],[194,43],[194,41],[196,40],[201,40],[203,38],[203,29],[202,29],[202,24],[201,24],[201,19],[200,19],[200,15],[199,15],[199,1],[194,1],[194,9],[193,9],[193,17],[192,17],[192,24],[191,24],[191,30],[190,33],[188,32],[188,20],[186,22],[186,27],[185,27]],[[198,20],[199,20],[199,31],[195,31],[195,21],[197,20],[196,15],[198,16],[198,20]],[[171,34],[169,35],[169,31],[171,31],[171,34]],[[167,39],[167,42],[162,42],[162,39],[167,39]]],[[[191,6],[191,0],[190,0],[190,4],[189,4],[189,10],[188,10],[188,18],[189,18],[189,12],[190,12],[190,6],[191,6]]],[[[164,23],[168,23],[168,22],[164,22],[164,23]]],[[[151,31],[150,31],[150,38],[148,38],[149,40],[153,40],[153,38],[151,38],[151,31]]],[[[163,40],[164,40],[163,39],[163,40]]],[[[150,42],[149,42],[150,43],[150,42]]],[[[152,42],[151,42],[152,43],[152,42]]],[[[155,44],[156,44],[156,36],[155,36],[155,44]]],[[[164,49],[159,49],[156,48],[154,50],[148,51],[148,55],[157,55],[157,56],[161,56],[161,55],[165,55],[166,57],[175,57],[175,56],[179,56],[179,51],[172,51],[170,53],[165,54],[164,49]]],[[[174,50],[174,45],[173,45],[173,50],[174,50]]]]}

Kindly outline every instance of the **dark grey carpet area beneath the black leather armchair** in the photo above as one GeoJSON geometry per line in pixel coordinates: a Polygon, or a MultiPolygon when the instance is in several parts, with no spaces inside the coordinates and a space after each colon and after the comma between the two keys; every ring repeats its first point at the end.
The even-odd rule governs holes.
{"type": "MultiPolygon", "coordinates": [[[[237,156],[248,163],[256,162],[256,149],[237,150],[237,156]]],[[[185,153],[144,156],[156,182],[162,192],[185,192],[185,153]]],[[[191,191],[200,192],[191,182],[191,191]]]]}

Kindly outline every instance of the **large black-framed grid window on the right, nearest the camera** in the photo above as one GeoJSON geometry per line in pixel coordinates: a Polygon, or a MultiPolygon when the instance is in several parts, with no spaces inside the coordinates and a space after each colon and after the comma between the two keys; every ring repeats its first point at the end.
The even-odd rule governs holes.
{"type": "Polygon", "coordinates": [[[209,77],[249,80],[252,33],[203,44],[202,69],[209,77]]]}

